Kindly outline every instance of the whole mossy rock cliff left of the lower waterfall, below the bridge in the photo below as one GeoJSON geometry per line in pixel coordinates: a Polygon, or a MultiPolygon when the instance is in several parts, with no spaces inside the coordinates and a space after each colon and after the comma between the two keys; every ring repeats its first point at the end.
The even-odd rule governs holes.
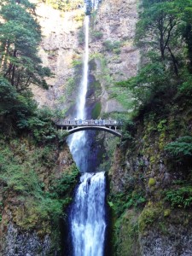
{"type": "Polygon", "coordinates": [[[61,252],[61,219],[78,175],[67,145],[37,146],[29,137],[0,144],[0,255],[61,252]]]}

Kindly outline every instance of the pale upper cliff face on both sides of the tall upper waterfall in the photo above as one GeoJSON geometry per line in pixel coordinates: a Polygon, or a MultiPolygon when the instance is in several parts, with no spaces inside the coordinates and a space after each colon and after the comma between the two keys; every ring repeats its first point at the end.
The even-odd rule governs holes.
{"type": "MultiPolygon", "coordinates": [[[[39,106],[70,109],[75,104],[73,99],[82,73],[84,11],[74,9],[62,13],[38,3],[37,14],[44,35],[39,55],[53,76],[47,79],[49,90],[32,86],[32,91],[39,106]]],[[[133,45],[136,22],[137,0],[104,0],[90,15],[90,90],[87,97],[91,106],[101,103],[102,113],[125,111],[111,98],[110,86],[137,73],[139,52],[133,45]],[[107,41],[115,46],[108,49],[107,41]]]]}

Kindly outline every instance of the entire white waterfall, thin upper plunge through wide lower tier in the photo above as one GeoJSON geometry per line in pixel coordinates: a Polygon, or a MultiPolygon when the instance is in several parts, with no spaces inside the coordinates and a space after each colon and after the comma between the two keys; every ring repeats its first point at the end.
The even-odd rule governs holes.
{"type": "MultiPolygon", "coordinates": [[[[84,18],[84,71],[79,86],[77,101],[77,119],[86,118],[86,93],[89,74],[89,23],[90,16],[84,18]]],[[[85,131],[79,131],[69,137],[69,148],[82,176],[76,191],[70,212],[73,256],[103,256],[105,241],[105,174],[91,173],[88,170],[89,149],[86,148],[88,137],[85,131]]]]}

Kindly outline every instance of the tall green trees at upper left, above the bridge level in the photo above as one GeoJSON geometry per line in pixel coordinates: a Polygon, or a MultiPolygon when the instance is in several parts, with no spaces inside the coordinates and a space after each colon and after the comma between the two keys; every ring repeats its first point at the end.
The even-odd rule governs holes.
{"type": "Polygon", "coordinates": [[[35,5],[27,0],[20,4],[6,0],[0,7],[0,125],[8,132],[31,129],[38,110],[29,86],[38,84],[47,89],[44,78],[50,75],[38,57],[41,32],[35,5]]]}

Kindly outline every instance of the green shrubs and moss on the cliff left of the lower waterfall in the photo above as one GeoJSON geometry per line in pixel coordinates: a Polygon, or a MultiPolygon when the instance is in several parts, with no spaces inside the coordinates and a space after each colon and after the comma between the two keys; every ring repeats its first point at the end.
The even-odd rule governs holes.
{"type": "Polygon", "coordinates": [[[63,218],[64,208],[72,200],[72,191],[79,174],[77,168],[72,166],[67,173],[62,174],[61,179],[49,177],[52,185],[49,185],[48,190],[45,189],[47,184],[42,180],[41,172],[43,170],[45,175],[46,168],[49,170],[49,167],[55,167],[54,147],[29,147],[26,139],[15,139],[10,144],[1,140],[0,145],[0,182],[3,191],[11,192],[20,203],[20,207],[13,210],[16,224],[27,230],[35,226],[37,228],[43,221],[54,224],[63,218]]]}

